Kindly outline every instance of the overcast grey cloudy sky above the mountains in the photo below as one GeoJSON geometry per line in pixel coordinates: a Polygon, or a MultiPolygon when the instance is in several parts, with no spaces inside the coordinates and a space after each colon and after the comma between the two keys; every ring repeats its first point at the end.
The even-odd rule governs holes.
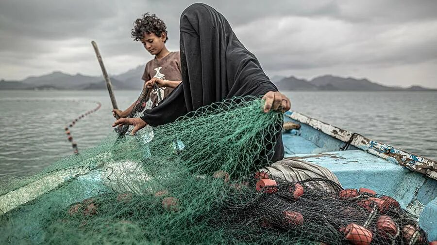
{"type": "MultiPolygon", "coordinates": [[[[152,56],[130,36],[157,14],[179,49],[179,16],[190,0],[1,0],[0,78],[52,71],[123,73],[152,56]]],[[[386,85],[437,88],[436,0],[203,1],[221,12],[269,76],[368,77],[386,85]]]]}

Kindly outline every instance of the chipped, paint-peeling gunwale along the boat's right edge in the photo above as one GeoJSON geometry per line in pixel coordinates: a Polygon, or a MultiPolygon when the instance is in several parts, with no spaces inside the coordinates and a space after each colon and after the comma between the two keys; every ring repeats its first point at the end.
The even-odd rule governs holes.
{"type": "Polygon", "coordinates": [[[388,144],[366,138],[358,133],[341,129],[332,124],[308,117],[296,111],[290,110],[284,115],[292,120],[304,123],[328,136],[344,142],[345,145],[341,148],[341,150],[347,150],[348,147],[352,145],[362,151],[437,180],[437,161],[435,160],[409,153],[388,144]]]}

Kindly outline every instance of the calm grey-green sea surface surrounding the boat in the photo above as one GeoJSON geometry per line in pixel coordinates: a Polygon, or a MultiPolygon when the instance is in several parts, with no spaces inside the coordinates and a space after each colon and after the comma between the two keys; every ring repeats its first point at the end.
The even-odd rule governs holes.
{"type": "MultiPolygon", "coordinates": [[[[292,109],[403,150],[437,159],[437,92],[285,92],[292,109]]],[[[139,91],[117,91],[128,107],[139,91]]],[[[0,91],[0,177],[26,176],[72,154],[64,127],[102,107],[71,129],[79,151],[113,129],[106,91],[0,91]]]]}

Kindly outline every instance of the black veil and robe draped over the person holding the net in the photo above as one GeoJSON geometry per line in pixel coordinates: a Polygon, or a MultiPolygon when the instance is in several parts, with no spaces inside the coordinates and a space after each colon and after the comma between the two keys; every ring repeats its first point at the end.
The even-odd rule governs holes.
{"type": "MultiPolygon", "coordinates": [[[[278,91],[256,57],[238,40],[226,18],[214,8],[195,3],[180,20],[182,83],[157,107],[141,117],[151,126],[234,96],[262,96],[278,91]]],[[[273,161],[284,157],[281,134],[273,161]]]]}

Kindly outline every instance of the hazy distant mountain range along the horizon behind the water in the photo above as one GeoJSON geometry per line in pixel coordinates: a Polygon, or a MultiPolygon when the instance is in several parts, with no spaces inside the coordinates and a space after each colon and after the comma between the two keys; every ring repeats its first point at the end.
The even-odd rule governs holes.
{"type": "MultiPolygon", "coordinates": [[[[112,85],[116,90],[140,90],[143,86],[141,77],[144,66],[139,65],[123,74],[111,76],[112,85]]],[[[296,77],[273,76],[271,81],[281,91],[437,91],[420,86],[409,88],[388,87],[366,78],[336,77],[325,75],[311,80],[296,77]]],[[[53,72],[40,77],[28,77],[21,81],[0,81],[0,90],[101,90],[106,89],[102,77],[91,77],[82,74],[68,75],[53,72]]]]}

